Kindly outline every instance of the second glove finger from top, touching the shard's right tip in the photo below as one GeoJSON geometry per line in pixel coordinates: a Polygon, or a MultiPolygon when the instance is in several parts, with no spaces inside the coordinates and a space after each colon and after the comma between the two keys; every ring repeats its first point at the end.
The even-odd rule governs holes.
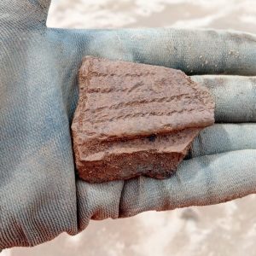
{"type": "Polygon", "coordinates": [[[191,79],[211,90],[216,122],[256,121],[256,77],[204,75],[191,79]]]}

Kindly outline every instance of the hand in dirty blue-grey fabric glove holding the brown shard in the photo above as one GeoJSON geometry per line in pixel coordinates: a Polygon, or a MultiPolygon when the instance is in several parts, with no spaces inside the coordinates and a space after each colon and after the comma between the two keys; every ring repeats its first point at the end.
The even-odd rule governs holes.
{"type": "Polygon", "coordinates": [[[54,29],[46,27],[48,9],[49,0],[0,3],[0,249],[34,246],[64,231],[75,235],[90,218],[204,206],[256,192],[255,35],[54,29]],[[201,131],[169,179],[77,179],[70,126],[84,55],[197,75],[192,79],[215,97],[218,124],[201,131]]]}

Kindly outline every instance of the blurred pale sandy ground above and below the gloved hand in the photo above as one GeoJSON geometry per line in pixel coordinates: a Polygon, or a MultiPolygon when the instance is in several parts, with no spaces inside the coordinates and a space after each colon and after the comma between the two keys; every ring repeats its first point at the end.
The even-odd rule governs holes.
{"type": "MultiPolygon", "coordinates": [[[[256,1],[52,0],[48,26],[211,27],[256,32],[256,1]]],[[[62,234],[38,247],[0,253],[0,256],[10,255],[253,256],[256,255],[256,195],[211,207],[91,221],[78,236],[62,234]]]]}

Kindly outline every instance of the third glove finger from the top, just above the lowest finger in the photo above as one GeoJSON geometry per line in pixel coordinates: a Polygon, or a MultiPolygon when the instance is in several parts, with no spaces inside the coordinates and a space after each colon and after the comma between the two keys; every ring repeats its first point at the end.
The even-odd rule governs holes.
{"type": "Polygon", "coordinates": [[[242,149],[256,149],[254,124],[216,124],[195,137],[189,158],[242,149]]]}

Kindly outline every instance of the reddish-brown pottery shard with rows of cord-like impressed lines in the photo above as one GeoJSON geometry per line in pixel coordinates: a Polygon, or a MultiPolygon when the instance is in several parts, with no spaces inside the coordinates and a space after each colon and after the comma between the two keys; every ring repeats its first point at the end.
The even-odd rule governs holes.
{"type": "Polygon", "coordinates": [[[169,177],[213,122],[212,97],[183,72],[87,56],[72,125],[79,177],[169,177]]]}

